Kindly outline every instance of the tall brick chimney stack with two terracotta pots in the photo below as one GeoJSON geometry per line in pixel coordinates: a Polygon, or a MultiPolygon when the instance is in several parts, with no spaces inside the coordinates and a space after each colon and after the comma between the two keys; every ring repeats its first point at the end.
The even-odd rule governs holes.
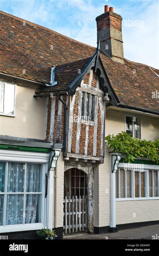
{"type": "Polygon", "coordinates": [[[124,63],[122,17],[114,12],[113,7],[108,7],[108,5],[105,5],[104,11],[96,18],[97,42],[100,38],[100,50],[114,61],[124,63]]]}

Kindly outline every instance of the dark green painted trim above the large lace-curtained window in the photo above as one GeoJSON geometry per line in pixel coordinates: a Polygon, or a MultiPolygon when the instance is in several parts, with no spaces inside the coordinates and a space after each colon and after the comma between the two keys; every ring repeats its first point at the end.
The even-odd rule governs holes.
{"type": "Polygon", "coordinates": [[[50,151],[51,151],[51,149],[47,149],[47,148],[12,146],[12,145],[2,145],[2,144],[0,144],[0,149],[17,150],[17,151],[29,151],[29,152],[40,152],[40,153],[50,153],[50,151]]]}

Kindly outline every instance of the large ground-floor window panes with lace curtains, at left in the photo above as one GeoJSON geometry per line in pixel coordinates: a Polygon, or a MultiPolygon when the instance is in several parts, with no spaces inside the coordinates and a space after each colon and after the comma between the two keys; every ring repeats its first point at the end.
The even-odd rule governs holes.
{"type": "Polygon", "coordinates": [[[42,222],[43,176],[39,163],[0,162],[0,226],[42,222]]]}

